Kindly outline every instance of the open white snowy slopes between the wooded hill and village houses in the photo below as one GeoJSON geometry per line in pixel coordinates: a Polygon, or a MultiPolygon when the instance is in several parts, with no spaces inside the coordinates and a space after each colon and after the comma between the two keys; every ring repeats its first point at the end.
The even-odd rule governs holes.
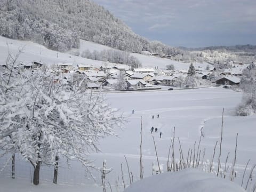
{"type": "MultiPolygon", "coordinates": [[[[46,65],[54,65],[59,62],[73,62],[73,63],[86,63],[93,65],[94,67],[100,67],[104,62],[98,60],[91,60],[82,57],[77,57],[75,55],[71,55],[68,53],[61,53],[58,51],[53,51],[47,49],[46,47],[39,45],[37,43],[29,42],[29,41],[19,41],[14,39],[9,39],[6,37],[0,36],[0,64],[5,63],[8,50],[10,53],[17,53],[19,49],[24,48],[22,54],[19,57],[19,61],[42,61],[46,65]]],[[[85,50],[90,50],[93,52],[109,50],[113,49],[111,47],[100,45],[97,43],[89,42],[81,40],[81,47],[79,48],[79,52],[82,53],[85,50]]],[[[162,59],[148,55],[142,55],[137,53],[132,53],[134,57],[138,58],[142,63],[143,67],[166,69],[166,65],[173,64],[175,69],[184,69],[187,70],[190,63],[182,63],[178,61],[173,61],[170,59],[162,59]]],[[[74,64],[75,65],[75,64],[74,64]]],[[[201,66],[205,68],[207,66],[206,63],[195,63],[195,67],[201,66]]]]}

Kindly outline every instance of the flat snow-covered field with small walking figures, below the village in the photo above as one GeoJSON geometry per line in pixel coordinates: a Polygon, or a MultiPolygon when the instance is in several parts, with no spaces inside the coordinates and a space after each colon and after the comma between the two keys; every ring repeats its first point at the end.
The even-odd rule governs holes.
{"type": "MultiPolygon", "coordinates": [[[[256,163],[256,116],[233,116],[234,108],[241,100],[241,97],[241,92],[234,92],[220,87],[195,90],[107,93],[106,98],[108,102],[111,103],[112,107],[118,108],[120,113],[123,113],[127,117],[127,122],[125,122],[125,128],[123,130],[116,129],[118,133],[117,138],[108,137],[101,140],[99,147],[102,153],[91,154],[90,158],[94,159],[94,163],[97,166],[102,166],[102,162],[106,159],[107,167],[113,168],[113,171],[106,175],[106,180],[113,185],[114,191],[117,188],[115,187],[116,182],[122,184],[121,163],[126,186],[129,185],[124,155],[133,174],[133,180],[138,180],[140,118],[142,117],[142,161],[144,177],[149,177],[152,174],[152,164],[153,162],[155,164],[157,162],[152,136],[154,136],[156,141],[159,163],[163,164],[163,170],[166,170],[167,155],[171,143],[170,139],[173,137],[174,126],[176,137],[174,148],[177,149],[175,154],[177,158],[179,158],[177,137],[181,141],[184,156],[187,157],[188,149],[194,149],[195,141],[198,143],[201,128],[203,127],[204,137],[201,141],[201,150],[203,151],[206,148],[205,160],[211,159],[215,142],[220,141],[222,109],[225,108],[221,162],[225,162],[226,155],[230,152],[228,166],[231,169],[230,166],[234,159],[236,134],[238,133],[237,178],[235,178],[235,182],[241,185],[243,171],[248,159],[251,159],[248,170],[250,170],[253,163],[256,163]],[[134,114],[132,114],[133,109],[134,114]],[[159,114],[159,118],[157,118],[157,114],[159,114]],[[153,115],[154,119],[152,119],[153,115]],[[152,126],[158,128],[157,133],[150,133],[152,126]],[[163,133],[161,139],[159,138],[160,132],[163,133]]],[[[217,146],[217,156],[219,154],[218,151],[219,145],[217,146]]],[[[2,159],[0,163],[3,162],[2,159]]],[[[217,158],[214,159],[214,162],[217,162],[217,158]]],[[[27,178],[27,182],[29,183],[31,165],[22,162],[17,164],[17,177],[27,178]]],[[[86,180],[86,178],[89,178],[89,175],[86,174],[86,171],[78,163],[73,162],[71,164],[73,167],[67,169],[65,162],[60,163],[59,183],[73,185],[75,183],[83,183],[83,185],[78,185],[78,187],[75,185],[76,191],[102,191],[102,188],[95,187],[92,180],[86,180]]],[[[0,173],[0,177],[8,177],[10,175],[9,173],[10,168],[6,168],[0,173]]],[[[51,183],[52,174],[52,168],[42,167],[41,182],[43,185],[38,188],[29,185],[31,188],[29,190],[43,191],[42,188],[47,188],[49,191],[56,191],[55,186],[45,186],[45,183],[51,183]]],[[[97,183],[100,184],[100,173],[94,172],[93,174],[97,183]]],[[[247,172],[245,175],[246,178],[248,178],[248,174],[247,172]]],[[[253,177],[255,177],[254,174],[253,177]]],[[[254,178],[253,181],[255,183],[254,178]]],[[[1,186],[9,185],[9,182],[11,183],[13,181],[11,179],[0,179],[1,186]]],[[[21,181],[17,179],[17,182],[21,181]]],[[[11,188],[15,187],[15,184],[10,185],[11,188]]],[[[59,187],[63,188],[63,185],[61,184],[59,187]]],[[[70,189],[68,186],[67,188],[65,187],[66,191],[70,189]]],[[[28,186],[25,185],[26,187],[28,186]]],[[[119,191],[123,190],[122,185],[119,186],[119,189],[119,191]]],[[[28,191],[28,189],[20,191],[28,191]]]]}

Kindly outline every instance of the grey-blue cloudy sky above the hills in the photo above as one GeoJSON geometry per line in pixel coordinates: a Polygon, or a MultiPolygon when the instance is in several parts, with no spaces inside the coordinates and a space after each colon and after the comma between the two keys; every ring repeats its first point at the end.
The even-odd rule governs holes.
{"type": "Polygon", "coordinates": [[[171,46],[256,44],[256,0],[93,0],[171,46]]]}

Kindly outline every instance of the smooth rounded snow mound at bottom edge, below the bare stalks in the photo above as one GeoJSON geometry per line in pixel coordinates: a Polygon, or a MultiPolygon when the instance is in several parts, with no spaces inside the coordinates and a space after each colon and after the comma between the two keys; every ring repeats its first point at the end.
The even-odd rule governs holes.
{"type": "Polygon", "coordinates": [[[217,178],[215,175],[196,169],[181,170],[175,173],[163,173],[135,182],[125,192],[238,192],[245,191],[228,179],[217,178]]]}

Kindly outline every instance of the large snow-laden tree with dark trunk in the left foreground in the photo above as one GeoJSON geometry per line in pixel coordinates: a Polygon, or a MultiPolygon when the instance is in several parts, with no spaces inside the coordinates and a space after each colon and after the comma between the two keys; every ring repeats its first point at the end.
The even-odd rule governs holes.
{"type": "Polygon", "coordinates": [[[14,70],[14,64],[1,71],[1,155],[20,153],[34,167],[35,185],[40,166],[55,166],[61,157],[92,166],[88,154],[99,151],[100,138],[115,135],[122,116],[101,94],[86,93],[84,79],[55,81],[47,70],[14,70]]]}

